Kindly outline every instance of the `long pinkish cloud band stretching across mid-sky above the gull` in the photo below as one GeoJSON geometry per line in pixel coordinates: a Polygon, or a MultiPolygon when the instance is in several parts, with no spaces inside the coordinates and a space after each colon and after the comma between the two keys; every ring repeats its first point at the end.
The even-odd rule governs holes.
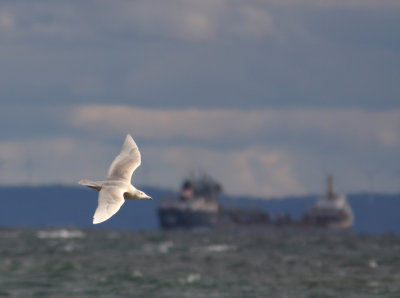
{"type": "MultiPolygon", "coordinates": [[[[400,111],[359,109],[146,109],[79,106],[71,125],[90,131],[124,133],[144,139],[266,144],[276,136],[288,142],[314,138],[350,146],[400,146],[400,111]],[[292,139],[292,141],[290,140],[292,139]]],[[[273,141],[275,142],[275,141],[273,141]]],[[[278,142],[279,143],[279,142],[278,142]]],[[[282,144],[282,143],[281,143],[282,144]]],[[[242,146],[237,143],[236,146],[242,146]]]]}

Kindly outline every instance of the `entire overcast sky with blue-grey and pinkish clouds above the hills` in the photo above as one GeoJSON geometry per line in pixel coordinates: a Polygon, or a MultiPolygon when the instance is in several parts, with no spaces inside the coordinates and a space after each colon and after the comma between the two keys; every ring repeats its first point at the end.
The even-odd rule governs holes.
{"type": "Polygon", "coordinates": [[[400,191],[400,1],[0,1],[0,184],[400,191]]]}

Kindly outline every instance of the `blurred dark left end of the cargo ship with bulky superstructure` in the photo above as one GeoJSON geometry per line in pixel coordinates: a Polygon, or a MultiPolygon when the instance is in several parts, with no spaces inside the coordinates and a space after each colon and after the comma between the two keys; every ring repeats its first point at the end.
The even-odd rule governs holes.
{"type": "Polygon", "coordinates": [[[203,174],[186,179],[177,196],[164,198],[158,206],[162,228],[195,228],[215,226],[219,219],[217,196],[219,183],[203,174]]]}

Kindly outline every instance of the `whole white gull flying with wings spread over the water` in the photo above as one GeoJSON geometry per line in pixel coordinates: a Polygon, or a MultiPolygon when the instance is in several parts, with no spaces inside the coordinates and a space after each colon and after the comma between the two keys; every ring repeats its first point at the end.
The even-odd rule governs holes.
{"type": "Polygon", "coordinates": [[[131,184],[131,177],[141,163],[139,148],[128,134],[121,153],[112,162],[105,181],[82,179],[78,183],[99,191],[99,203],[93,216],[93,224],[106,221],[113,216],[125,199],[149,199],[143,191],[131,184]]]}

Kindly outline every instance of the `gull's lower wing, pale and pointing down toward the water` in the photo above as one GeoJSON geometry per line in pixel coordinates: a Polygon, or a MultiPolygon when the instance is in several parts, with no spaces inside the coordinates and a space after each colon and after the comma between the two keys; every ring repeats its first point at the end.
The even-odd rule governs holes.
{"type": "Polygon", "coordinates": [[[119,187],[104,187],[99,192],[99,203],[93,216],[93,223],[98,224],[113,216],[124,200],[124,190],[119,187]]]}

